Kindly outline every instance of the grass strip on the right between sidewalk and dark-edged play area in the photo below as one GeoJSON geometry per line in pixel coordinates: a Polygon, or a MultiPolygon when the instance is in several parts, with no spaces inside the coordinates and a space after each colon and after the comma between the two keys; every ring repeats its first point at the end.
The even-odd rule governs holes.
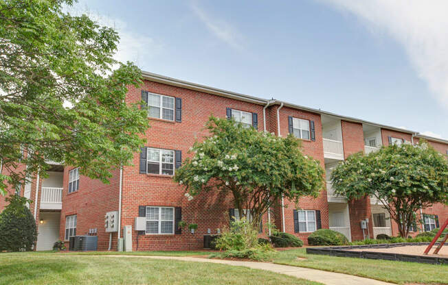
{"type": "Polygon", "coordinates": [[[306,254],[305,249],[280,251],[274,262],[347,273],[397,284],[448,284],[447,265],[320,256],[306,254]],[[306,258],[306,260],[298,260],[298,257],[306,258]]]}

